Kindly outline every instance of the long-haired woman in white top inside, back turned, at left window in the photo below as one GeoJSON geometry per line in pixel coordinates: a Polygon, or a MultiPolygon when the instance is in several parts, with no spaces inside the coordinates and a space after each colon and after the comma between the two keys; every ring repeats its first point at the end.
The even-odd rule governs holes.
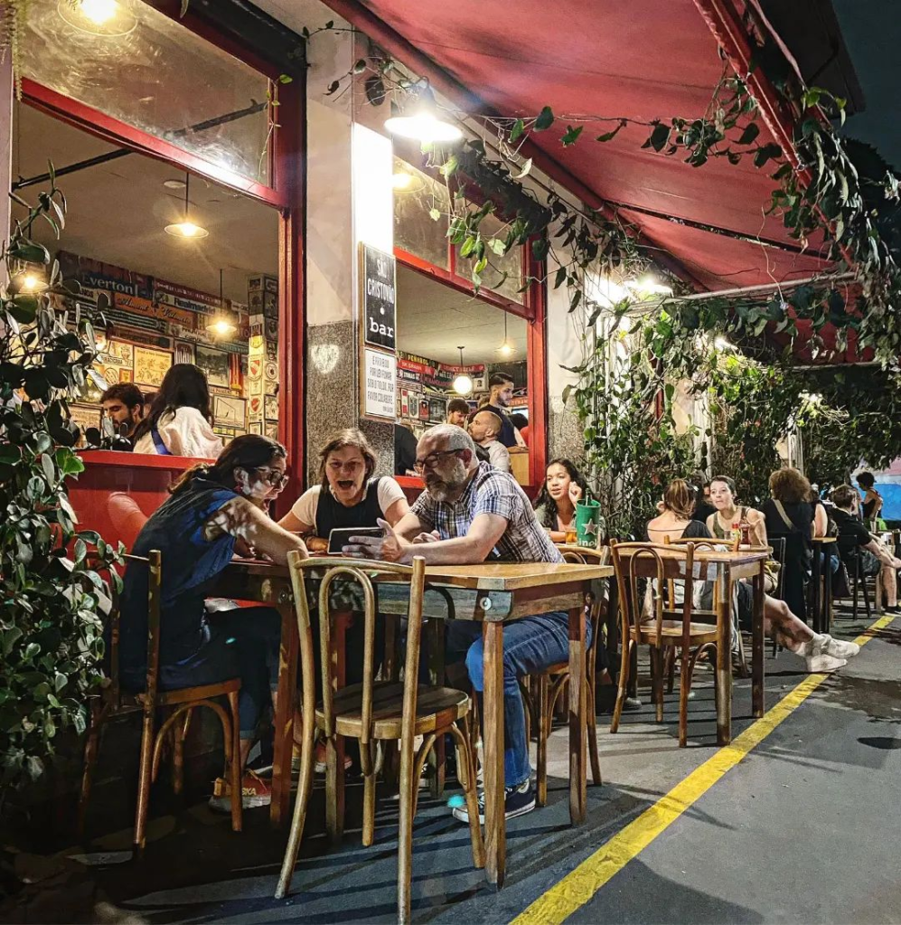
{"type": "Polygon", "coordinates": [[[169,367],[150,413],[135,428],[136,453],[215,459],[222,439],[213,433],[210,388],[200,366],[169,367]]]}

